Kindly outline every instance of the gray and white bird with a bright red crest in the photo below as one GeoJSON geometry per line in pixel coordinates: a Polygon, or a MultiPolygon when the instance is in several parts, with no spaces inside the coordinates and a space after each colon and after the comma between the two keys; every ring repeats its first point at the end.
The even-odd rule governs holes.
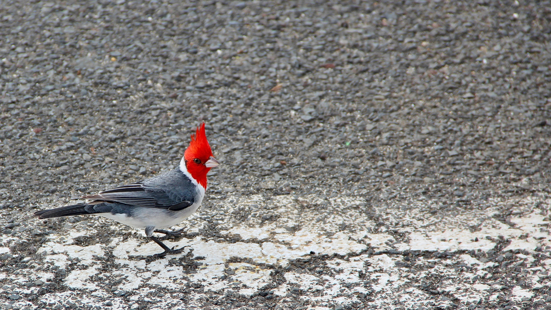
{"type": "Polygon", "coordinates": [[[155,255],[179,254],[185,247],[169,248],[153,233],[163,233],[166,237],[180,235],[183,229],[168,231],[164,228],[182,222],[201,206],[207,189],[207,173],[219,164],[213,157],[202,122],[195,135],[191,134],[190,145],[176,169],[81,197],[89,202],[36,211],[33,215],[39,219],[87,214],[104,216],[145,229],[145,236],[164,249],[163,253],[155,255]]]}

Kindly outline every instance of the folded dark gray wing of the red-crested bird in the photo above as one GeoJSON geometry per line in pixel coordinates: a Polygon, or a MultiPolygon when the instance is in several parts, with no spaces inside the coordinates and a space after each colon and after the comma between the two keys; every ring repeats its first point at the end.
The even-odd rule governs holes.
{"type": "Polygon", "coordinates": [[[195,184],[179,169],[174,169],[147,180],[82,197],[179,211],[191,206],[196,201],[196,196],[195,184]]]}

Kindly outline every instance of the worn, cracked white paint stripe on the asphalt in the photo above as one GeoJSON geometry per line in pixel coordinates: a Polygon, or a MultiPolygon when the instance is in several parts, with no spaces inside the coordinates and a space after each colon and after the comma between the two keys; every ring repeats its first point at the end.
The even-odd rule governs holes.
{"type": "MultiPolygon", "coordinates": [[[[508,201],[494,202],[494,207],[484,211],[466,212],[463,215],[435,220],[422,215],[414,207],[396,208],[394,210],[377,210],[387,221],[404,223],[401,233],[406,236],[397,240],[384,227],[374,230],[375,223],[366,213],[349,206],[361,205],[360,197],[333,197],[320,204],[330,204],[332,212],[323,215],[315,209],[305,209],[305,204],[318,203],[317,197],[306,196],[294,199],[291,196],[271,197],[274,209],[280,216],[276,221],[262,222],[258,218],[249,218],[245,222],[237,221],[228,216],[218,225],[220,234],[225,237],[241,237],[240,242],[230,243],[224,239],[209,239],[197,236],[191,239],[182,238],[177,242],[166,241],[169,247],[188,245],[193,249],[193,256],[203,256],[198,260],[203,265],[193,272],[187,272],[182,266],[171,263],[172,258],[179,258],[189,253],[190,248],[178,255],[168,255],[152,263],[146,263],[135,256],[147,256],[160,252],[154,242],[140,237],[122,241],[121,237],[112,238],[109,244],[93,244],[82,247],[74,244],[74,238],[79,236],[94,236],[98,227],[76,225],[67,228],[58,234],[48,236],[37,251],[44,255],[41,264],[49,264],[58,268],[68,268],[71,262],[78,261],[77,268],[71,268],[64,277],[62,284],[69,288],[83,292],[79,296],[80,304],[100,305],[105,299],[112,301],[112,308],[132,308],[138,301],[155,302],[155,307],[187,309],[201,307],[202,298],[209,294],[224,296],[228,293],[237,293],[245,297],[252,297],[259,290],[269,287],[276,298],[291,296],[291,289],[298,287],[301,290],[301,301],[309,304],[310,309],[328,309],[333,304],[358,303],[358,294],[370,294],[373,301],[371,306],[381,309],[393,308],[393,302],[400,301],[406,307],[447,307],[451,301],[434,300],[427,292],[412,287],[410,284],[418,280],[424,281],[431,274],[442,277],[448,276],[440,288],[463,303],[491,301],[510,298],[522,302],[522,298],[531,298],[534,291],[530,288],[512,287],[508,291],[499,290],[490,293],[493,286],[483,284],[472,279],[487,279],[488,269],[496,266],[492,261],[483,262],[478,257],[469,254],[458,254],[449,259],[418,258],[417,264],[426,266],[426,270],[409,272],[403,267],[406,260],[401,255],[384,253],[388,250],[422,250],[450,251],[493,249],[498,238],[510,240],[506,249],[523,249],[529,254],[516,254],[517,259],[525,261],[530,270],[527,284],[533,288],[550,285],[549,279],[539,271],[551,271],[551,259],[542,260],[538,266],[532,266],[534,257],[530,255],[536,247],[546,247],[551,244],[551,237],[547,230],[548,218],[540,214],[539,209],[530,209],[510,220],[515,226],[509,226],[496,221],[492,216],[498,208],[508,201]],[[348,206],[348,209],[347,209],[348,206]],[[396,211],[399,210],[399,211],[396,211]],[[405,211],[402,211],[405,210],[405,211]],[[466,227],[478,225],[480,229],[469,231],[466,227]],[[344,229],[342,227],[345,227],[344,229]],[[502,236],[502,237],[499,237],[502,236]],[[254,242],[252,242],[254,241],[254,242]],[[365,251],[375,254],[366,254],[365,251]],[[314,252],[315,254],[311,254],[314,252]],[[102,260],[106,254],[115,256],[115,263],[120,267],[105,271],[101,269],[102,260]],[[272,267],[285,268],[291,260],[309,259],[312,256],[350,255],[349,259],[328,259],[323,268],[332,270],[330,274],[316,272],[298,273],[290,270],[284,272],[283,283],[277,285],[272,267]],[[229,263],[228,260],[234,262],[229,263]],[[469,272],[457,272],[454,266],[464,264],[472,267],[469,272]],[[105,291],[101,279],[121,279],[114,293],[105,291]],[[153,286],[174,289],[179,291],[189,283],[204,285],[202,292],[187,296],[187,303],[179,298],[166,295],[163,298],[150,296],[153,286]],[[117,294],[131,292],[128,301],[117,294]],[[409,305],[409,306],[408,306],[409,305]]],[[[530,204],[536,198],[525,201],[515,201],[516,204],[530,204]]],[[[251,197],[228,197],[220,202],[226,214],[239,207],[250,204],[264,205],[266,202],[260,195],[251,197]],[[233,204],[229,201],[236,201],[233,204]]],[[[420,206],[422,202],[415,203],[420,206]]],[[[545,204],[549,205],[546,201],[545,204]]],[[[326,212],[326,211],[323,211],[326,212]]],[[[109,223],[109,220],[96,218],[99,223],[109,223]]],[[[186,224],[183,223],[183,224],[186,224]]],[[[190,218],[190,226],[200,228],[204,225],[200,213],[190,218]]],[[[188,226],[188,227],[190,227],[188,226]]],[[[190,227],[191,228],[191,227],[190,227]]],[[[126,229],[121,226],[121,229],[126,229]]],[[[9,253],[10,240],[3,239],[6,247],[0,248],[0,253],[9,253]]],[[[526,252],[525,252],[526,253],[526,252]]],[[[31,265],[25,272],[38,274],[33,271],[38,264],[31,265]]],[[[53,274],[42,274],[40,279],[48,281],[53,274]]],[[[13,283],[29,281],[28,277],[14,277],[0,274],[0,279],[10,279],[13,283]]],[[[35,279],[38,279],[35,277],[35,279]]],[[[21,292],[29,291],[26,287],[18,288],[21,292]]],[[[33,288],[36,289],[36,288],[33,288]]],[[[73,292],[58,292],[46,294],[41,301],[54,306],[73,296],[73,292]]],[[[23,301],[14,302],[14,305],[23,305],[23,301]]],[[[31,306],[36,308],[37,306],[31,306]]]]}

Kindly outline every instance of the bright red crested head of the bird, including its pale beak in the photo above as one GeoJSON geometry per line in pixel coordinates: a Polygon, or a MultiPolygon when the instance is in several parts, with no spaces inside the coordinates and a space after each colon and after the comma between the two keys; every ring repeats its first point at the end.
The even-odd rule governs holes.
{"type": "Polygon", "coordinates": [[[197,183],[207,188],[207,173],[210,168],[217,167],[218,161],[212,156],[212,150],[205,135],[205,123],[197,127],[195,136],[191,135],[190,146],[183,154],[186,169],[197,183]]]}

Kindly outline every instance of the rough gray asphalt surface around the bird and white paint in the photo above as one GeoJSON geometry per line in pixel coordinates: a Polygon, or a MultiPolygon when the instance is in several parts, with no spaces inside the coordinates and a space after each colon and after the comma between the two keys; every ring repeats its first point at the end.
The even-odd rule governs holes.
{"type": "MultiPolygon", "coordinates": [[[[426,218],[444,220],[495,206],[494,220],[505,225],[523,210],[495,201],[536,197],[534,208],[549,221],[549,8],[549,1],[483,0],[3,1],[0,222],[10,252],[2,272],[29,268],[26,257],[41,265],[38,249],[48,236],[83,220],[42,222],[31,212],[176,167],[201,121],[223,165],[209,174],[198,217],[205,225],[190,238],[219,238],[227,218],[220,204],[252,195],[361,197],[359,212],[374,232],[396,240],[406,239],[403,221],[381,210],[419,201],[426,218]]],[[[258,223],[284,216],[269,205],[227,216],[239,222],[251,215],[258,223]]],[[[111,224],[95,229],[98,236],[80,245],[129,236],[111,224]]],[[[484,283],[531,289],[517,256],[501,252],[507,242],[473,250],[487,261],[501,255],[484,283]]],[[[507,253],[532,255],[533,267],[549,259],[549,248],[507,253]]],[[[287,270],[307,269],[296,264],[287,270]]],[[[71,268],[51,266],[55,279],[29,282],[37,290],[19,297],[8,293],[20,284],[0,280],[4,309],[25,307],[8,301],[50,307],[41,298],[70,291],[63,279],[71,268]]],[[[548,280],[523,300],[505,293],[478,303],[441,291],[440,281],[415,287],[438,300],[448,296],[447,308],[551,307],[548,280]]],[[[265,291],[253,304],[234,296],[203,307],[309,307],[304,292],[265,291]]],[[[375,307],[376,295],[360,295],[357,303],[326,306],[375,307]]]]}

